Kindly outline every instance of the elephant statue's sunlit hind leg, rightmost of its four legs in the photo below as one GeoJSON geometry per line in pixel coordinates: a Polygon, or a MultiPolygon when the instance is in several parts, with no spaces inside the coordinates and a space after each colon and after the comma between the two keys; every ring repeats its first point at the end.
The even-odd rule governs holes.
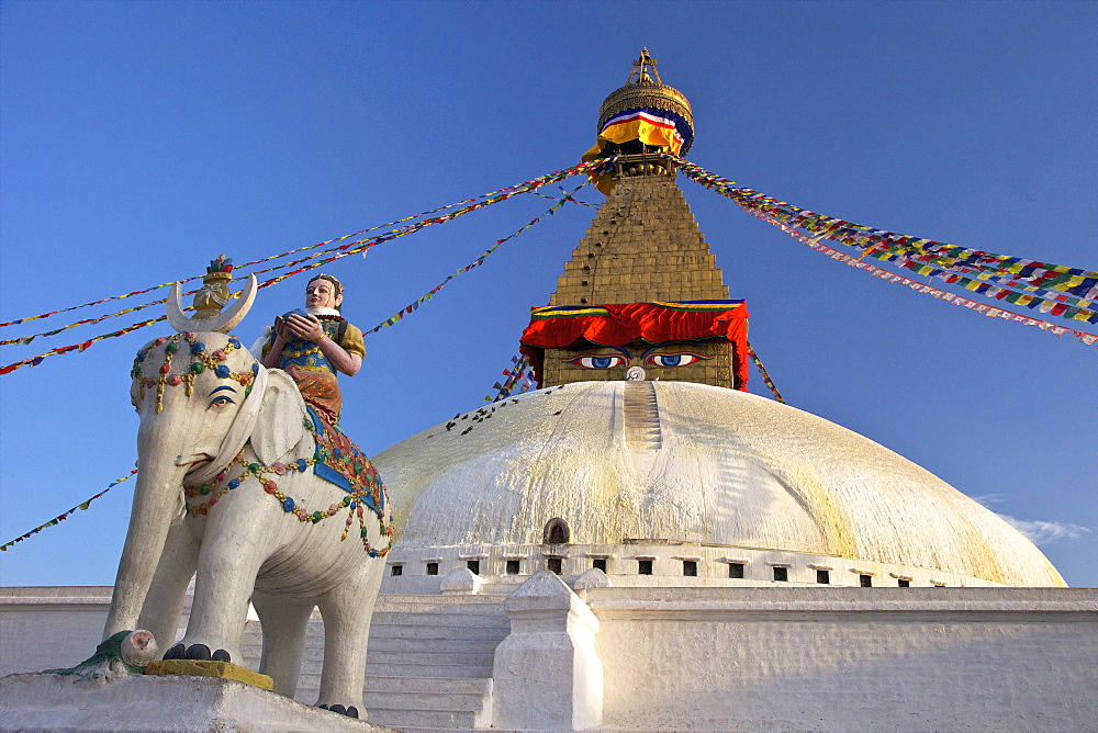
{"type": "Polygon", "coordinates": [[[366,559],[343,584],[317,601],[324,617],[324,669],[316,702],[362,720],[366,644],[384,567],[380,559],[366,559]]]}

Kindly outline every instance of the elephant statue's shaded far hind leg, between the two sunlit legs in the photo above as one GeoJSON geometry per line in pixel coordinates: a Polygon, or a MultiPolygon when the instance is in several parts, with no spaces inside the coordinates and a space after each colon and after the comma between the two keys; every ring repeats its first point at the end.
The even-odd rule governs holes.
{"type": "Polygon", "coordinates": [[[316,602],[256,591],[251,604],[264,628],[264,657],[259,672],[274,680],[274,691],[292,698],[298,691],[305,653],[309,617],[316,602]]]}

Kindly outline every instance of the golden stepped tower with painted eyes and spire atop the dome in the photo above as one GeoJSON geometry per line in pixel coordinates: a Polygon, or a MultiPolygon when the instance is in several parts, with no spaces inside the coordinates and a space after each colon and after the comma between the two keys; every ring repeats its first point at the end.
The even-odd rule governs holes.
{"type": "Polygon", "coordinates": [[[746,388],[747,307],[728,300],[668,157],[693,143],[690,101],[656,64],[648,49],[634,61],[583,156],[607,161],[596,180],[607,198],[523,335],[541,386],[659,379],[746,388]]]}

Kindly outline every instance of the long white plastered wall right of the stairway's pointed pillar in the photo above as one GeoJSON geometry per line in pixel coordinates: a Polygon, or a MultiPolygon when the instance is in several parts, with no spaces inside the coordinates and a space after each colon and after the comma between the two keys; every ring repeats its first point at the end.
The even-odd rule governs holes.
{"type": "Polygon", "coordinates": [[[1095,731],[1098,591],[593,588],[606,730],[1095,731]]]}

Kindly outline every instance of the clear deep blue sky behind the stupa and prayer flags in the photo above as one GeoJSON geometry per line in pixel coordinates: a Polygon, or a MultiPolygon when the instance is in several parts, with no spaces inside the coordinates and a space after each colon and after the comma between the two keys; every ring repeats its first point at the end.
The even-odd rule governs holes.
{"type": "MultiPolygon", "coordinates": [[[[694,106],[701,166],[858,223],[1098,269],[1089,2],[8,1],[0,13],[2,322],[568,167],[645,45],[694,106]]],[[[882,282],[680,184],[791,404],[981,497],[1069,584],[1098,585],[1094,347],[882,282]]],[[[550,204],[515,199],[325,270],[368,329],[550,204]]],[[[347,432],[376,453],[482,404],[593,214],[565,207],[369,336],[361,373],[344,380],[347,432]]],[[[304,285],[262,291],[242,339],[304,285]]],[[[159,312],[2,346],[0,362],[144,313],[159,312]]],[[[130,363],[161,332],[0,376],[0,542],[133,466],[130,363]]],[[[765,394],[757,376],[752,392],[765,394]]],[[[0,583],[112,583],[131,487],[0,555],[0,583]]]]}

